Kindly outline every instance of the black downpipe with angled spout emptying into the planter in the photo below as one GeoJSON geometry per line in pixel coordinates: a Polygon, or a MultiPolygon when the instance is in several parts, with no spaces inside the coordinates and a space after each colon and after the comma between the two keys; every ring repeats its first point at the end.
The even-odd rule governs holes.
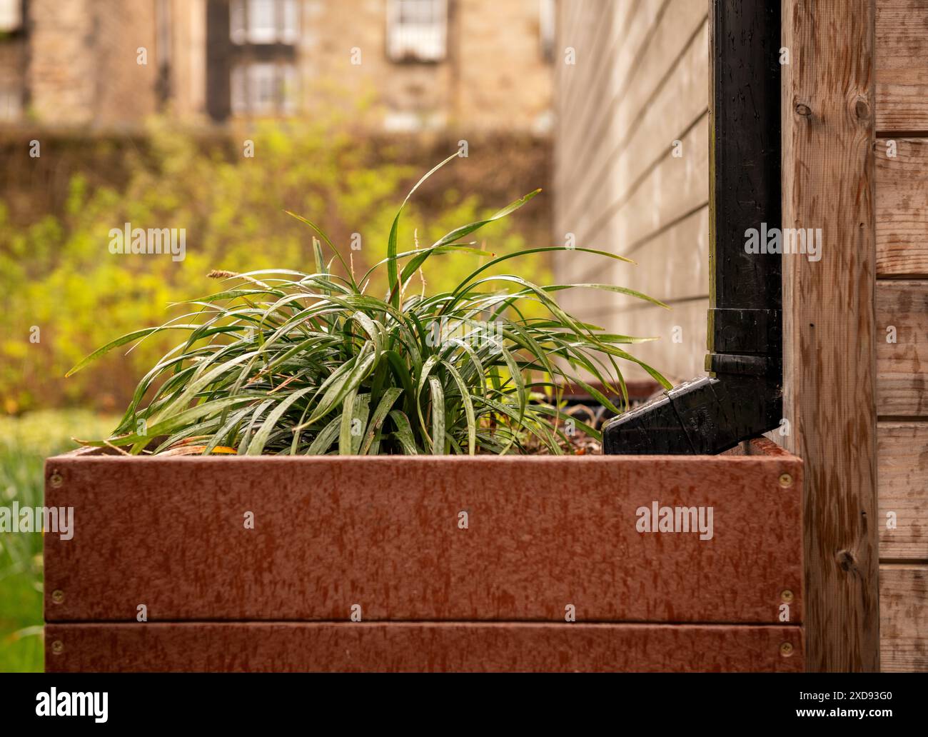
{"type": "Polygon", "coordinates": [[[745,252],[747,228],[780,227],[780,3],[713,0],[709,36],[709,375],[607,422],[607,454],[715,454],[780,424],[780,255],[745,252]]]}

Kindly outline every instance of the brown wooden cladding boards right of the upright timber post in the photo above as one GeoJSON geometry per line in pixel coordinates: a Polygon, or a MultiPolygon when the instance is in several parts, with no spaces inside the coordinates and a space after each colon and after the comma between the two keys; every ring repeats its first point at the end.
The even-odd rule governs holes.
{"type": "Polygon", "coordinates": [[[883,670],[928,670],[928,2],[876,0],[883,670]]]}

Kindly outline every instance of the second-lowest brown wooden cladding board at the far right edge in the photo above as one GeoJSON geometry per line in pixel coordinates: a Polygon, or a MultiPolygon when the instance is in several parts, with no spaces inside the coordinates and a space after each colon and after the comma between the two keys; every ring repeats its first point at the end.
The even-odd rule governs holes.
{"type": "Polygon", "coordinates": [[[880,557],[928,561],[928,422],[880,422],[877,470],[880,557]]]}

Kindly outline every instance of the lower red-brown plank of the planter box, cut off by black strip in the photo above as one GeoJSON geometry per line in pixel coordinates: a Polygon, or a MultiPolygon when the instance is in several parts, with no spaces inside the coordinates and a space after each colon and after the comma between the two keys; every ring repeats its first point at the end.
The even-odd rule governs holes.
{"type": "Polygon", "coordinates": [[[45,670],[801,671],[802,627],[512,623],[49,625],[45,670]],[[60,653],[52,653],[58,642],[60,653]],[[781,653],[784,643],[792,646],[781,653]]]}

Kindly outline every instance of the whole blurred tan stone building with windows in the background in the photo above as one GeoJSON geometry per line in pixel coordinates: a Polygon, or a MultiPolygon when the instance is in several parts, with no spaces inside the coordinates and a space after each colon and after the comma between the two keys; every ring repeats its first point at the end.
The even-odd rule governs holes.
{"type": "Polygon", "coordinates": [[[367,102],[380,130],[545,134],[554,0],[0,0],[0,122],[367,102]]]}

